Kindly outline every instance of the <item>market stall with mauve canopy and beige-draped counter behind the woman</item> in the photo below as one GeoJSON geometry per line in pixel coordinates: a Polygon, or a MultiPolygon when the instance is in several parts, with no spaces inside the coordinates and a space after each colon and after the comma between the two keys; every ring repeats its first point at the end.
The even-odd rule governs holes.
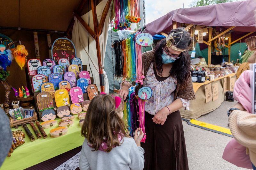
{"type": "Polygon", "coordinates": [[[198,68],[198,71],[205,68],[209,69],[209,72],[205,72],[206,77],[212,75],[214,80],[209,79],[211,81],[207,81],[205,77],[205,82],[200,80],[200,83],[193,83],[196,100],[190,101],[189,111],[180,109],[182,117],[195,119],[215,110],[225,99],[225,91],[233,91],[232,88],[230,89],[230,80],[232,80],[231,84],[234,85],[236,71],[229,75],[220,74],[220,72],[221,69],[225,70],[231,61],[234,61],[232,65],[230,64],[231,70],[236,70],[239,66],[239,57],[245,50],[243,48],[242,51],[241,42],[244,42],[245,38],[255,35],[256,29],[253,18],[255,8],[255,2],[247,0],[177,9],[146,25],[147,33],[164,36],[167,36],[167,33],[173,28],[184,27],[194,37],[190,47],[191,56],[198,57],[202,54],[200,49],[206,50],[205,55],[207,57],[203,58],[204,60],[199,60],[193,69],[198,68]],[[244,11],[247,11],[246,14],[244,11]],[[232,51],[232,47],[236,43],[240,43],[241,51],[238,51],[237,47],[234,48],[237,51],[232,51]],[[223,61],[225,51],[228,54],[228,62],[219,65],[223,61]],[[211,65],[211,63],[215,65],[211,65]],[[217,70],[214,70],[215,67],[217,70]],[[210,70],[211,68],[213,70],[210,70]]]}

